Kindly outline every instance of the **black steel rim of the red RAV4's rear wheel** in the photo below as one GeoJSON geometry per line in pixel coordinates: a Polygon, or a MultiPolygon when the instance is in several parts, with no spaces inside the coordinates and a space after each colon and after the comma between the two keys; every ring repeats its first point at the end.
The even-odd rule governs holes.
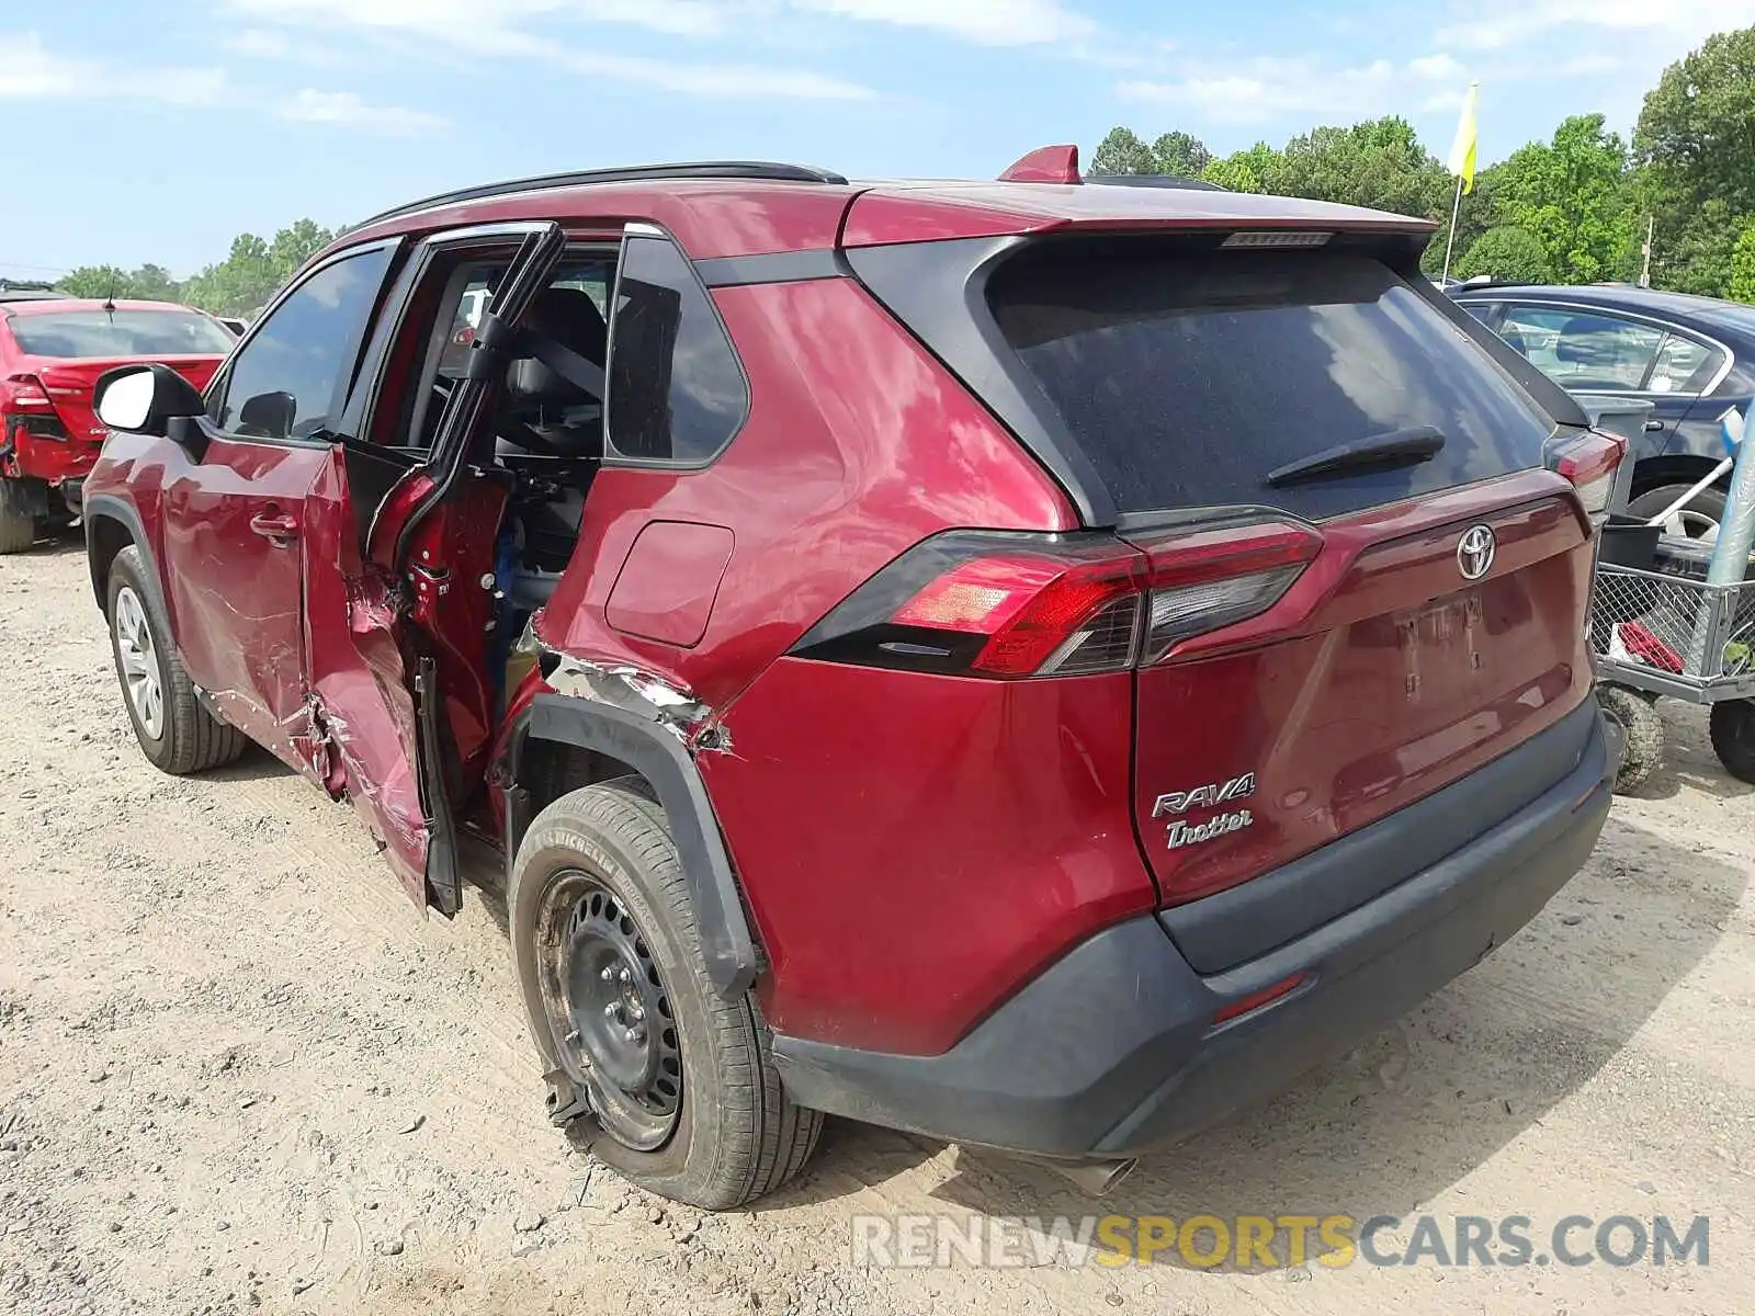
{"type": "Polygon", "coordinates": [[[590,874],[555,876],[541,912],[542,1000],[569,1076],[604,1132],[662,1148],[683,1107],[683,1053],[658,965],[625,904],[590,874]]]}

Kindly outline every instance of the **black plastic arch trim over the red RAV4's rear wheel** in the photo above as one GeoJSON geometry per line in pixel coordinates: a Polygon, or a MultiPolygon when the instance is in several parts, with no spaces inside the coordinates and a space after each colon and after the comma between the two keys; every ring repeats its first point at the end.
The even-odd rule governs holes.
{"type": "Polygon", "coordinates": [[[611,704],[572,695],[537,695],[523,714],[523,725],[511,737],[505,762],[507,870],[516,863],[530,828],[530,795],[518,779],[526,740],[593,749],[646,777],[658,795],[683,860],[707,979],[727,1000],[748,991],[760,969],[755,935],[707,786],[683,742],[665,726],[611,704]]]}

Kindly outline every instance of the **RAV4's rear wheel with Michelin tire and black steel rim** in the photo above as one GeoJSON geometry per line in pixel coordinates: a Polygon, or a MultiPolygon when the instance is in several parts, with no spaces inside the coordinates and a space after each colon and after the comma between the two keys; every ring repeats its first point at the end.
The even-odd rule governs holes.
{"type": "Polygon", "coordinates": [[[713,990],[676,842],[637,781],[537,814],[505,904],[532,1033],[590,1093],[600,1160],[707,1211],[802,1169],[823,1118],[781,1090],[751,997],[713,990]]]}

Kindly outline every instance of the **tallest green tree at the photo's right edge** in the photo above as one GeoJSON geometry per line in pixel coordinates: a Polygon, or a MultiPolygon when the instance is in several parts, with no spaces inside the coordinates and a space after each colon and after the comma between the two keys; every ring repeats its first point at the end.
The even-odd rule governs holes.
{"type": "Polygon", "coordinates": [[[1729,290],[1732,247],[1755,216],[1755,28],[1708,37],[1644,98],[1634,156],[1657,221],[1653,283],[1729,290]]]}

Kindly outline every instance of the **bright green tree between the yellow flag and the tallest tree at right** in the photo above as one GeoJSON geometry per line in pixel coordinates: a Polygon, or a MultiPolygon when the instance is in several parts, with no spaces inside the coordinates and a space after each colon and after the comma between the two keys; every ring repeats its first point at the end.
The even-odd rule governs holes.
{"type": "Polygon", "coordinates": [[[1636,212],[1627,144],[1601,114],[1576,114],[1551,142],[1518,147],[1494,168],[1497,219],[1532,233],[1560,283],[1632,274],[1636,212]]]}

